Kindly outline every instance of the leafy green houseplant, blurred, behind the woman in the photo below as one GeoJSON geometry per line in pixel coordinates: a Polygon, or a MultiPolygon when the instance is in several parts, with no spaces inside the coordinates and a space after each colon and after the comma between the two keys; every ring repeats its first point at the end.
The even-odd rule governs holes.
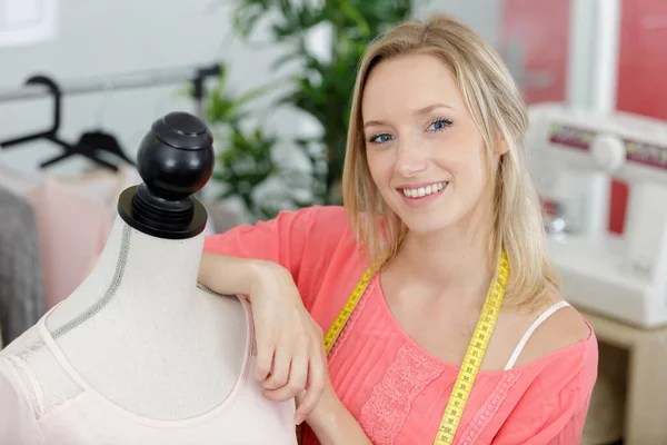
{"type": "Polygon", "coordinates": [[[288,79],[289,91],[273,107],[292,107],[321,126],[315,137],[283,140],[261,127],[248,125],[248,105],[271,90],[270,85],[242,95],[228,88],[227,70],[207,97],[206,118],[217,132],[213,181],[222,186],[221,199],[242,202],[246,219],[272,218],[285,208],[341,202],[340,179],[349,102],[357,65],[370,41],[388,27],[412,14],[411,0],[239,0],[235,31],[251,39],[259,23],[270,24],[271,41],[288,48],[272,68],[286,63],[300,68],[288,79]],[[308,48],[307,33],[327,26],[332,36],[330,57],[322,61],[308,48]],[[278,146],[298,150],[307,168],[280,161],[278,146]],[[257,190],[270,192],[258,195],[257,190]],[[307,190],[307,194],[303,194],[307,190]]]}

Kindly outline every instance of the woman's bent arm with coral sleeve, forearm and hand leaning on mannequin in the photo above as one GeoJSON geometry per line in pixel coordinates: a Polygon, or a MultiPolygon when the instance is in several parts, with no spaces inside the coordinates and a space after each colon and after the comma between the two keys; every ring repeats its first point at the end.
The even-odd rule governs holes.
{"type": "Polygon", "coordinates": [[[346,230],[345,209],[312,207],[205,239],[199,281],[252,305],[256,378],[263,382],[265,396],[293,399],[306,388],[295,422],[312,412],[325,388],[323,336],[307,309],[325,273],[322,258],[332,255],[346,230]]]}

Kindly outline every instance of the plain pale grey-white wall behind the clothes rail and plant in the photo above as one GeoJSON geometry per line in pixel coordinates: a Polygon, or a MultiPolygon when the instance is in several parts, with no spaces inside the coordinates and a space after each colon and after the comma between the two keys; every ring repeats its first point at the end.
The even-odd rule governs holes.
{"type": "MultiPolygon", "coordinates": [[[[417,16],[449,12],[466,20],[489,41],[497,40],[500,0],[427,3],[418,9],[417,16]]],[[[48,73],[66,82],[226,59],[232,62],[230,75],[235,87],[247,90],[271,78],[268,67],[280,49],[247,46],[232,39],[230,11],[235,4],[235,0],[60,0],[57,40],[32,47],[0,47],[0,88],[19,87],[36,73],[48,73]]],[[[110,95],[66,96],[61,136],[73,141],[82,131],[100,123],[116,134],[126,151],[133,155],[155,119],[173,110],[195,111],[191,101],[177,96],[181,88],[172,85],[110,95]]],[[[48,99],[0,103],[0,140],[46,128],[50,113],[48,99]]],[[[301,121],[282,112],[266,125],[293,131],[301,121]]],[[[37,141],[0,149],[0,165],[33,172],[40,161],[59,152],[52,144],[37,141]]],[[[78,172],[86,164],[68,160],[49,171],[78,172]]]]}

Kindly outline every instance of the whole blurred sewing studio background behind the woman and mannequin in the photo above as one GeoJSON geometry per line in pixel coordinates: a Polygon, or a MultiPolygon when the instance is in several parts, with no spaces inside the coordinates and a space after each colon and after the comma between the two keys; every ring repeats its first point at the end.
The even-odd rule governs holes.
{"type": "Polygon", "coordinates": [[[0,259],[32,268],[29,291],[0,287],[3,344],[87,274],[168,112],[215,132],[209,234],[340,204],[360,55],[432,12],[530,106],[564,294],[600,342],[586,443],[667,444],[665,0],[0,0],[0,259]]]}

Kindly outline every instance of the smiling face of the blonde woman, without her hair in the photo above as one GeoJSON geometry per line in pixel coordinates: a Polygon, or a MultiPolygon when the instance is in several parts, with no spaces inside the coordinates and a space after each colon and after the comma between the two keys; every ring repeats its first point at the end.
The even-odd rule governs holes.
{"type": "Polygon", "coordinates": [[[409,230],[464,228],[490,211],[486,145],[441,60],[381,61],[367,79],[361,113],[371,177],[409,230]]]}

